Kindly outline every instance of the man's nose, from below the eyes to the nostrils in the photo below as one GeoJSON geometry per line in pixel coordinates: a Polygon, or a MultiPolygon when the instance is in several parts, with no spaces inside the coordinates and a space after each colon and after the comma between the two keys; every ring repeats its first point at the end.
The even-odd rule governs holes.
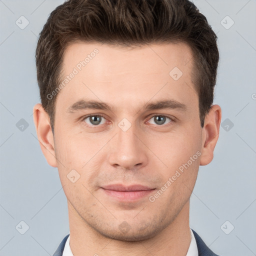
{"type": "Polygon", "coordinates": [[[117,134],[111,141],[108,161],[114,167],[136,170],[147,164],[146,146],[142,137],[131,126],[123,131],[117,127],[117,134]]]}

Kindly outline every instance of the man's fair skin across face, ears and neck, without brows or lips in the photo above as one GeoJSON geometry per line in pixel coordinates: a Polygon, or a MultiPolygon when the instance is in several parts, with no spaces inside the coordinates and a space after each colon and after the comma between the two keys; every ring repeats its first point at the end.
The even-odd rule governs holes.
{"type": "Polygon", "coordinates": [[[33,108],[41,150],[48,164],[58,168],[67,197],[72,253],[186,255],[191,239],[189,197],[199,165],[213,158],[220,106],[212,105],[202,128],[188,61],[192,53],[185,43],[127,48],[76,42],[65,50],[61,78],[94,48],[98,54],[57,94],[54,136],[41,104],[33,108]],[[169,75],[175,66],[183,73],[176,81],[169,75]],[[81,99],[104,102],[111,110],[67,111],[81,99]],[[166,99],[185,104],[187,110],[143,108],[166,99]],[[104,118],[95,125],[85,118],[89,114],[104,118]],[[163,124],[154,119],[159,115],[166,116],[163,124]],[[123,118],[131,124],[126,131],[118,126],[123,118]],[[196,152],[198,158],[149,201],[196,152]],[[75,182],[67,178],[72,169],[80,175],[75,182]],[[101,188],[115,183],[155,190],[136,201],[119,201],[101,188]]]}

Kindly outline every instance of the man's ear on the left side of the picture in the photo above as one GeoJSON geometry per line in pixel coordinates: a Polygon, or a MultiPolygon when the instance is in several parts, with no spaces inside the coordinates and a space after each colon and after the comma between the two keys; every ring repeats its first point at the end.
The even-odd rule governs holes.
{"type": "Polygon", "coordinates": [[[49,115],[45,112],[42,105],[37,103],[33,107],[33,120],[37,133],[37,138],[44,157],[49,165],[57,167],[54,151],[54,140],[50,126],[49,115]]]}

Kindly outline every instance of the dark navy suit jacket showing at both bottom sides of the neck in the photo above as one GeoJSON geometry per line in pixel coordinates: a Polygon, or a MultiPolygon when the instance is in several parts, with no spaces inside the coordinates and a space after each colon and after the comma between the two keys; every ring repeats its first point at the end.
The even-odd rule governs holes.
{"type": "MultiPolygon", "coordinates": [[[[201,237],[192,229],[193,233],[194,233],[194,238],[196,240],[196,244],[197,244],[197,249],[198,249],[198,256],[218,256],[217,254],[213,253],[207,246],[206,244],[203,242],[203,240],[201,239],[201,237]]],[[[63,250],[64,250],[64,246],[65,246],[65,242],[66,239],[68,237],[69,234],[67,234],[63,240],[61,241],[61,243],[58,245],[57,250],[54,252],[54,254],[52,256],[62,256],[63,250]]]]}

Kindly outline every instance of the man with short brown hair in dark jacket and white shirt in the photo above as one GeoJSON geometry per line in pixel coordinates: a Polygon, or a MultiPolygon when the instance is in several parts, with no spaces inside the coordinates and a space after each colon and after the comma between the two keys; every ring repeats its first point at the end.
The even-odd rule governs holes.
{"type": "Polygon", "coordinates": [[[218,139],[218,49],[188,0],[68,0],[36,48],[34,123],[70,235],[54,256],[216,255],[189,228],[218,139]]]}

